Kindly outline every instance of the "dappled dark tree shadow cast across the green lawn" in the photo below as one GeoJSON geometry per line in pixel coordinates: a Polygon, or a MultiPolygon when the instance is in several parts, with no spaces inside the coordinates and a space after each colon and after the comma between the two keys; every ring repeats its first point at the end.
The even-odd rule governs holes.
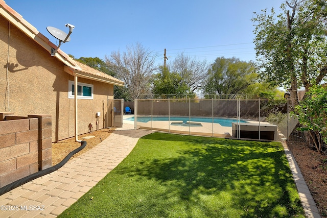
{"type": "MultiPolygon", "coordinates": [[[[155,205],[158,214],[169,215],[166,209],[160,210],[166,206],[158,202],[170,204],[171,208],[183,204],[190,217],[195,207],[200,207],[207,217],[221,217],[230,209],[238,211],[239,217],[289,217],[301,213],[294,180],[279,142],[162,133],[147,135],[142,140],[144,146],[153,147],[148,148],[149,152],[160,150],[165,144],[177,147],[171,154],[168,151],[159,157],[141,159],[134,167],[119,168],[121,174],[133,179],[156,182],[157,187],[153,188],[159,190],[157,196],[148,198],[153,199],[149,203],[155,205]]],[[[144,202],[138,206],[142,207],[141,204],[144,202]]]]}

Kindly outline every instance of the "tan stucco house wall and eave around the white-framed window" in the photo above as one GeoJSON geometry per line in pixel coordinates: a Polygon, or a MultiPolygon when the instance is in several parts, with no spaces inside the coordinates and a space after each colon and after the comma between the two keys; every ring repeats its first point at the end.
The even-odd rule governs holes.
{"type": "MultiPolygon", "coordinates": [[[[93,99],[78,99],[78,133],[88,132],[90,123],[94,130],[105,128],[104,115],[108,100],[113,99],[113,84],[124,83],[75,62],[60,49],[56,56],[51,56],[51,47],[55,45],[49,39],[2,0],[0,9],[0,111],[17,116],[51,114],[52,141],[72,137],[75,134],[75,100],[68,98],[69,81],[74,81],[75,75],[84,74],[87,76],[78,77],[78,82],[93,86],[93,99]],[[18,25],[27,26],[32,35],[35,34],[34,38],[8,20],[7,14],[7,17],[2,16],[2,7],[12,15],[10,19],[17,21],[19,18],[18,25]],[[100,112],[98,118],[97,112],[100,112]]],[[[111,124],[110,118],[107,117],[107,126],[111,124]]]]}

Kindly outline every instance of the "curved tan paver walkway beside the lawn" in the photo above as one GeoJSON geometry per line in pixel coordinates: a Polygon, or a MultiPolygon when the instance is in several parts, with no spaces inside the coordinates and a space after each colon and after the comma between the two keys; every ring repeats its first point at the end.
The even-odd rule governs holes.
{"type": "Polygon", "coordinates": [[[5,205],[0,209],[0,217],[58,216],[117,166],[139,138],[151,133],[133,128],[124,124],[98,146],[69,160],[57,171],[0,196],[0,206],[5,205]]]}

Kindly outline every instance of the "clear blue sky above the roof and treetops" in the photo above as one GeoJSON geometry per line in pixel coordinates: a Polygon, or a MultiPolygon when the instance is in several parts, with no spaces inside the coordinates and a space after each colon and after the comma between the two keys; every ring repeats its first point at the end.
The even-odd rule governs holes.
{"type": "Polygon", "coordinates": [[[253,12],[279,6],[285,0],[6,0],[43,35],[58,44],[46,27],[68,33],[60,49],[75,58],[110,56],[141,43],[164,64],[164,49],[172,61],[178,53],[206,59],[237,57],[255,60],[253,12]]]}

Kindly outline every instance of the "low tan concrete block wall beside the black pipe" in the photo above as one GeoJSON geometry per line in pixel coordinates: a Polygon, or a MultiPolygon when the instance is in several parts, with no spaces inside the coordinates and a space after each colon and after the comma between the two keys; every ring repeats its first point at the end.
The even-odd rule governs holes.
{"type": "Polygon", "coordinates": [[[52,166],[51,115],[0,112],[0,187],[52,166]]]}

